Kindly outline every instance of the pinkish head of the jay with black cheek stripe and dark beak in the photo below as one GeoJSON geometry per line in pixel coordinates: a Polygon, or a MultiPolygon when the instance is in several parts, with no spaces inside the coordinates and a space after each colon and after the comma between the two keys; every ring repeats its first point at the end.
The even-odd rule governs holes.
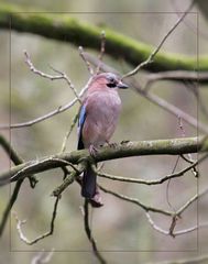
{"type": "Polygon", "coordinates": [[[119,76],[112,73],[102,73],[96,75],[90,84],[92,89],[127,89],[128,85],[123,84],[119,76]]]}

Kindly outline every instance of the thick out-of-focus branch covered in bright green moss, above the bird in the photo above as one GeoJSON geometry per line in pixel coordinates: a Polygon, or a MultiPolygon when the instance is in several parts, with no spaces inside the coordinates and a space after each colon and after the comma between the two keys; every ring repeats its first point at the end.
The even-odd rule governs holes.
{"type": "MultiPolygon", "coordinates": [[[[0,3],[0,28],[12,29],[19,32],[39,34],[48,38],[69,42],[74,45],[81,45],[99,50],[100,32],[106,31],[106,53],[114,58],[123,58],[132,66],[145,61],[152,53],[153,47],[122,35],[108,28],[87,24],[69,14],[48,14],[44,11],[31,11],[14,4],[0,3]]],[[[196,56],[171,54],[160,52],[153,64],[146,66],[147,70],[195,70],[197,68],[196,56]]],[[[208,70],[208,57],[199,58],[199,69],[208,70]]]]}

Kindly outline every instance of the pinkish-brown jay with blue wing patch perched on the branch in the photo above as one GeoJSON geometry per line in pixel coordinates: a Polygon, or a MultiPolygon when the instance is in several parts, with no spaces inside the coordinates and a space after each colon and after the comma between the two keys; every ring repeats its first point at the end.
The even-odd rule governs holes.
{"type": "MultiPolygon", "coordinates": [[[[95,155],[96,147],[109,143],[121,110],[118,88],[125,89],[128,86],[112,73],[102,73],[92,77],[79,112],[78,150],[88,148],[90,154],[95,155]]],[[[97,204],[98,207],[102,206],[96,174],[90,165],[84,172],[81,196],[97,204]]]]}

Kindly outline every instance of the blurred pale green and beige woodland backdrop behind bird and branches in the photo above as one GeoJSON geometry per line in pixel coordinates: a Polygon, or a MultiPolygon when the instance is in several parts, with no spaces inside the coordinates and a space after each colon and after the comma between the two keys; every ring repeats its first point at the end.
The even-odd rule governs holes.
{"type": "MultiPolygon", "coordinates": [[[[96,25],[107,25],[122,34],[135,40],[156,46],[168,29],[177,20],[174,11],[184,11],[189,1],[151,1],[151,0],[120,0],[120,1],[81,1],[61,0],[52,2],[45,0],[34,1],[4,1],[20,4],[21,7],[33,7],[35,10],[47,12],[64,11],[63,15],[75,16],[80,21],[96,25]],[[110,13],[117,11],[121,13],[110,13]],[[138,13],[122,13],[122,12],[138,13]],[[70,13],[73,12],[73,13],[70,13]],[[98,13],[103,12],[103,13],[98,13]]],[[[200,12],[197,8],[195,11],[200,12]]],[[[206,19],[199,13],[199,54],[207,54],[206,19]],[[205,33],[205,35],[204,35],[205,33]]],[[[168,37],[163,51],[180,53],[197,57],[197,15],[188,14],[186,23],[182,23],[168,37]]],[[[107,40],[108,41],[108,40],[107,40]]],[[[81,45],[81,43],[80,43],[81,45]]],[[[34,34],[21,34],[11,32],[11,70],[10,70],[10,32],[0,31],[0,123],[23,122],[40,117],[58,106],[67,103],[73,99],[73,92],[64,81],[41,78],[32,74],[24,63],[23,51],[28,51],[34,65],[44,73],[53,74],[50,66],[65,72],[75,87],[80,90],[89,78],[86,65],[83,63],[77,47],[67,43],[47,40],[34,34]],[[11,90],[9,89],[11,81],[11,90]],[[11,92],[11,108],[10,108],[11,92]]],[[[89,51],[97,54],[95,51],[89,51]]],[[[113,61],[106,56],[105,62],[120,73],[127,73],[131,66],[122,61],[113,61]]],[[[146,73],[136,76],[138,80],[144,79],[146,73]]],[[[206,122],[206,117],[197,109],[195,96],[179,82],[158,81],[153,91],[168,100],[171,103],[206,122]]],[[[202,99],[208,99],[207,86],[201,88],[202,99]]],[[[136,95],[133,90],[121,91],[122,114],[112,142],[122,140],[155,140],[182,136],[178,120],[165,112],[163,109],[149,102],[136,95]]],[[[31,128],[13,130],[11,142],[13,147],[25,160],[35,160],[44,155],[61,151],[62,142],[78,109],[78,105],[68,111],[58,114],[31,128]]],[[[186,136],[195,136],[197,130],[184,123],[186,136]]],[[[10,133],[3,131],[10,138],[10,133]]],[[[74,130],[68,143],[67,151],[76,150],[77,134],[74,130]]],[[[0,169],[10,166],[7,155],[0,150],[0,169]]],[[[193,156],[196,157],[196,156],[193,156]]],[[[106,163],[105,172],[138,177],[144,179],[158,178],[169,174],[174,167],[176,157],[152,156],[131,157],[106,163]]],[[[186,164],[179,162],[177,169],[186,164]]],[[[191,173],[185,177],[172,180],[169,185],[169,200],[174,208],[178,208],[196,194],[197,184],[199,189],[207,185],[207,164],[200,165],[198,183],[191,173]]],[[[35,189],[31,189],[25,180],[21,189],[13,211],[18,212],[20,219],[26,219],[24,233],[33,239],[48,229],[52,216],[54,198],[52,190],[62,183],[59,169],[50,170],[39,176],[40,183],[35,189]]],[[[164,209],[169,209],[166,199],[166,184],[146,187],[135,184],[122,184],[99,179],[103,186],[119,193],[139,198],[141,201],[164,209]]],[[[3,212],[13,186],[1,188],[0,212],[3,212]]],[[[15,220],[7,226],[3,238],[0,241],[0,263],[31,263],[35,255],[34,251],[55,249],[50,263],[97,263],[90,253],[91,246],[86,238],[83,223],[83,198],[79,186],[73,184],[63,195],[58,207],[55,222],[55,232],[52,237],[34,244],[25,245],[18,235],[15,220]]],[[[165,237],[150,227],[144,211],[128,202],[118,200],[110,195],[103,194],[105,206],[92,211],[91,223],[94,235],[98,246],[103,251],[103,256],[109,263],[154,263],[165,260],[177,260],[196,256],[207,251],[207,230],[187,233],[173,239],[165,237]]],[[[194,204],[177,222],[177,230],[206,221],[207,197],[194,204]],[[198,207],[197,207],[198,205],[198,207]]],[[[171,220],[163,216],[153,216],[156,223],[168,229],[171,220]]]]}

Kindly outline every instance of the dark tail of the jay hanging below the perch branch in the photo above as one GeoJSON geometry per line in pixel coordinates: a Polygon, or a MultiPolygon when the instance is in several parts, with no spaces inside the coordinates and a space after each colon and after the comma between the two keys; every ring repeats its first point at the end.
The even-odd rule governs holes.
{"type": "Polygon", "coordinates": [[[94,198],[96,195],[96,173],[91,169],[91,166],[88,166],[87,169],[84,172],[83,176],[83,186],[81,186],[81,196],[85,198],[94,198]]]}

